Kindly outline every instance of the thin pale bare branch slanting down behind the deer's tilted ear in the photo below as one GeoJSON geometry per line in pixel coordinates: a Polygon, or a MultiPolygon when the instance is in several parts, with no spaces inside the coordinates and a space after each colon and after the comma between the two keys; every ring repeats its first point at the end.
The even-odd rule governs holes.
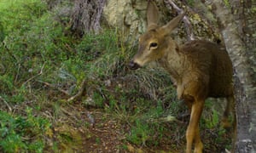
{"type": "MultiPolygon", "coordinates": [[[[177,5],[175,3],[173,3],[172,0],[165,0],[165,3],[170,3],[172,5],[172,8],[177,10],[177,14],[183,14],[183,12],[184,12],[183,9],[178,8],[177,5]]],[[[171,9],[170,7],[168,7],[168,8],[171,9]]],[[[183,22],[184,22],[185,26],[187,27],[186,31],[187,31],[187,34],[188,34],[188,39],[189,40],[195,40],[193,29],[192,29],[191,23],[190,23],[187,16],[183,17],[183,22]]]]}

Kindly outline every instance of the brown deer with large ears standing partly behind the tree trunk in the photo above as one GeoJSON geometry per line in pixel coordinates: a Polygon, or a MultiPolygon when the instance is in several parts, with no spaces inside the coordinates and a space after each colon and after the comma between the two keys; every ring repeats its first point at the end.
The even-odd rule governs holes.
{"type": "MultiPolygon", "coordinates": [[[[139,38],[137,54],[131,60],[131,69],[137,69],[150,61],[158,62],[170,74],[177,86],[177,97],[183,99],[190,111],[186,131],[186,152],[201,153],[203,144],[199,132],[199,121],[205,100],[208,97],[227,99],[224,124],[228,124],[231,107],[234,107],[233,69],[225,48],[213,42],[194,40],[178,46],[169,36],[183,19],[179,14],[165,26],[158,26],[157,7],[148,1],[148,29],[139,38]]],[[[233,114],[235,116],[235,114],[233,114]]],[[[235,122],[236,118],[234,118],[235,122]]],[[[236,124],[234,124],[236,125],[236,124]]]]}

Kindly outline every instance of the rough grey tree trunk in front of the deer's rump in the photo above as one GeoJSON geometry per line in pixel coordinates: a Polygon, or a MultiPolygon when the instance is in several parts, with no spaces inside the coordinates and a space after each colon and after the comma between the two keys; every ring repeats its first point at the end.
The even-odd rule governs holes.
{"type": "Polygon", "coordinates": [[[255,28],[253,6],[246,8],[245,2],[237,0],[225,4],[224,1],[212,0],[212,12],[217,17],[218,25],[224,37],[224,43],[238,78],[236,79],[236,152],[255,152],[256,88],[255,82],[253,82],[255,66],[252,55],[255,54],[256,36],[255,29],[254,33],[252,31],[255,28]],[[231,14],[231,7],[233,7],[233,14],[231,14]],[[245,18],[245,13],[248,12],[252,13],[252,20],[245,18]],[[249,52],[251,56],[248,56],[249,52]]]}

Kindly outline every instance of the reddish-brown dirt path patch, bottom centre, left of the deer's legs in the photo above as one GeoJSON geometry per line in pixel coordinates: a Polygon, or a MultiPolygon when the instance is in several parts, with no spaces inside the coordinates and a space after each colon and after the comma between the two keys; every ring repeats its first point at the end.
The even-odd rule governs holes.
{"type": "MultiPolygon", "coordinates": [[[[133,152],[125,143],[120,124],[100,109],[86,109],[75,104],[61,108],[61,117],[53,125],[53,139],[61,152],[133,152]]],[[[53,146],[54,148],[54,146],[53,146]]],[[[52,152],[52,150],[46,150],[52,152]]]]}

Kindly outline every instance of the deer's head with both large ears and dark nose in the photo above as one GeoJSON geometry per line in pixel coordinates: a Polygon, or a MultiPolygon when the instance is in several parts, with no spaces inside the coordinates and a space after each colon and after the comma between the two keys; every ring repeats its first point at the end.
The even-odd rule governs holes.
{"type": "Polygon", "coordinates": [[[159,14],[156,5],[148,1],[147,19],[148,29],[139,38],[139,48],[137,54],[131,60],[129,66],[131,69],[137,69],[150,61],[160,59],[166,53],[169,47],[169,35],[177,27],[184,13],[179,14],[165,26],[158,26],[159,14]]]}

